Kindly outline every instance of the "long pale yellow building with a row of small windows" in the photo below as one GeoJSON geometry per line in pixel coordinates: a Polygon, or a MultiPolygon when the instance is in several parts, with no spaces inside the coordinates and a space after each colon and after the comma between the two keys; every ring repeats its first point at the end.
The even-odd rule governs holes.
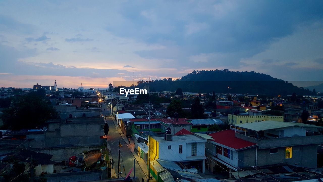
{"type": "Polygon", "coordinates": [[[244,124],[244,123],[252,123],[252,122],[260,122],[266,120],[280,121],[284,122],[284,116],[236,116],[233,114],[228,114],[228,123],[229,124],[244,124]]]}

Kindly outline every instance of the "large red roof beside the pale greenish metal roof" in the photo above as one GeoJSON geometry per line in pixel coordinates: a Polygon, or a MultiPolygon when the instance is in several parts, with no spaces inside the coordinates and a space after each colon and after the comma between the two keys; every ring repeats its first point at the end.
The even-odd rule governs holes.
{"type": "Polygon", "coordinates": [[[248,142],[235,137],[235,131],[231,129],[210,133],[208,135],[214,138],[214,142],[234,148],[236,150],[257,145],[256,143],[248,142]]]}

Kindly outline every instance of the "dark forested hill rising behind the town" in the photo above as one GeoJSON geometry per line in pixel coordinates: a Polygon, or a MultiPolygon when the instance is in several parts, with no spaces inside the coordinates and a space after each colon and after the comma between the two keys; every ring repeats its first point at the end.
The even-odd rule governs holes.
{"type": "Polygon", "coordinates": [[[310,90],[294,86],[291,83],[273,78],[270,75],[251,72],[234,72],[224,70],[193,71],[181,79],[173,81],[171,78],[139,81],[138,86],[143,88],[149,85],[150,91],[175,91],[182,88],[183,92],[197,93],[248,93],[265,95],[307,95],[310,90]]]}

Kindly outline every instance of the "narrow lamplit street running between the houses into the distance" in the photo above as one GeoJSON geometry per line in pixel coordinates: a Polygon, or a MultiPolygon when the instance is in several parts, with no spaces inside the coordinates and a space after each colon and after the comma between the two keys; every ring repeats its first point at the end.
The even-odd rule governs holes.
{"type": "MultiPolygon", "coordinates": [[[[102,114],[104,116],[107,115],[107,122],[109,124],[108,141],[111,147],[112,159],[115,161],[114,170],[116,171],[116,177],[118,177],[119,141],[122,145],[122,147],[120,148],[120,172],[122,172],[121,176],[125,177],[128,175],[131,168],[133,168],[134,156],[129,150],[127,143],[122,139],[120,133],[117,131],[116,125],[114,124],[112,117],[108,117],[110,115],[109,108],[104,107],[104,105],[102,106],[102,108],[105,108],[105,111],[102,110],[102,114]]],[[[131,140],[131,143],[133,146],[133,140],[131,140]]],[[[136,176],[138,177],[139,181],[141,181],[141,178],[143,178],[146,182],[147,177],[142,171],[137,161],[135,162],[135,170],[136,176]]],[[[133,176],[133,171],[131,172],[130,176],[133,176]]]]}

